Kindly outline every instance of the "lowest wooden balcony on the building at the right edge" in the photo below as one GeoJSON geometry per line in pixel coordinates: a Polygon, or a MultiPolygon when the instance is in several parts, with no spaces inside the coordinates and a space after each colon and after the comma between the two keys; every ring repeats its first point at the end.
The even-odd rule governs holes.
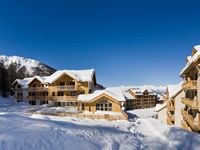
{"type": "Polygon", "coordinates": [[[187,125],[192,129],[192,131],[200,131],[200,121],[195,121],[194,118],[189,115],[187,111],[181,110],[181,114],[183,115],[184,120],[186,121],[187,125]]]}

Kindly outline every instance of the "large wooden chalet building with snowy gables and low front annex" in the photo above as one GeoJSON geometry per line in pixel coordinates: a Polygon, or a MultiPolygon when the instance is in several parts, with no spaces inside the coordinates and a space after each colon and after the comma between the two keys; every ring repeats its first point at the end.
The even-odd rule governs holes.
{"type": "Polygon", "coordinates": [[[120,87],[97,89],[95,70],[59,70],[48,77],[17,79],[14,97],[32,105],[49,104],[79,111],[121,112],[125,103],[120,87]]]}

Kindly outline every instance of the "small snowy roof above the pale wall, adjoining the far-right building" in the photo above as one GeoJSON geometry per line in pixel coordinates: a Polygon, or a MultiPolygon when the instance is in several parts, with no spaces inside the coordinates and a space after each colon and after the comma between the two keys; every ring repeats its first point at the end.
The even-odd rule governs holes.
{"type": "Polygon", "coordinates": [[[183,82],[180,82],[179,84],[167,86],[169,98],[172,98],[173,96],[175,96],[178,92],[182,90],[182,84],[183,82]]]}

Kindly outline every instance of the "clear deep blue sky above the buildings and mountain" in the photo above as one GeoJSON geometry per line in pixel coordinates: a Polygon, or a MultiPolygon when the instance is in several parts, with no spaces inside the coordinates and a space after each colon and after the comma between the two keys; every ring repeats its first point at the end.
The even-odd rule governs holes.
{"type": "Polygon", "coordinates": [[[165,85],[200,44],[198,0],[0,0],[0,55],[95,68],[106,86],[165,85]]]}

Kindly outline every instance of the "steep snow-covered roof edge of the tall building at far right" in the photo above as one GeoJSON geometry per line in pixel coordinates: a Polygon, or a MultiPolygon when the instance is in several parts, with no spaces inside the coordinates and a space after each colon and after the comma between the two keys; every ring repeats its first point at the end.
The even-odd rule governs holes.
{"type": "Polygon", "coordinates": [[[200,57],[200,45],[194,46],[194,50],[197,52],[194,54],[194,56],[187,57],[188,62],[186,66],[181,70],[180,76],[183,75],[183,73],[200,57]]]}

